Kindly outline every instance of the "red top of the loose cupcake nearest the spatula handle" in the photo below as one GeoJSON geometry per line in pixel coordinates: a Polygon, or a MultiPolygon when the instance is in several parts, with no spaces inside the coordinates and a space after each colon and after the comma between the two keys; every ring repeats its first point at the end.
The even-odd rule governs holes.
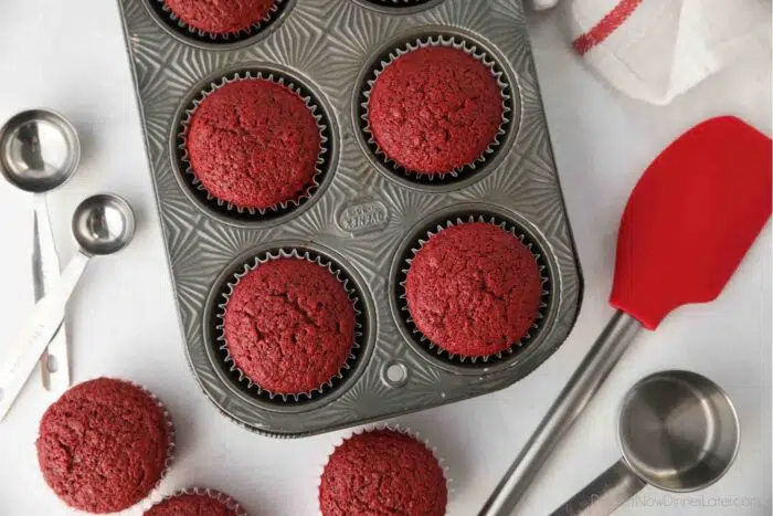
{"type": "Polygon", "coordinates": [[[444,516],[447,499],[446,480],[432,451],[393,430],[343,441],[319,486],[322,516],[444,516]]]}

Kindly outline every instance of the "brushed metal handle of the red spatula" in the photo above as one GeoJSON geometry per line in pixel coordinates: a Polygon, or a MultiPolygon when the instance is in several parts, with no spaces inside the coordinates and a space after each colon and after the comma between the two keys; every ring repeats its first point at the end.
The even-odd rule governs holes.
{"type": "Polygon", "coordinates": [[[478,516],[511,516],[548,455],[591,401],[642,325],[617,312],[553,402],[478,516]]]}

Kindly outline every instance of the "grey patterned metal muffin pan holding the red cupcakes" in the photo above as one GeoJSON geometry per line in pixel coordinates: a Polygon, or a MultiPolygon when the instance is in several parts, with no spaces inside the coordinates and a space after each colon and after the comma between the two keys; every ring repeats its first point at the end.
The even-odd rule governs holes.
{"type": "Polygon", "coordinates": [[[564,341],[582,277],[519,0],[284,0],[263,30],[234,41],[174,28],[158,2],[118,0],[186,355],[223,414],[263,434],[317,434],[502,389],[564,341]],[[412,181],[368,147],[360,124],[363,81],[390,48],[441,35],[477,45],[496,62],[512,113],[479,170],[455,181],[412,181]],[[208,201],[180,165],[186,108],[213,81],[240,72],[295,80],[324,114],[329,152],[320,186],[275,217],[208,201]],[[549,291],[539,329],[522,349],[490,361],[438,356],[412,335],[398,298],[412,242],[432,224],[470,215],[525,234],[540,254],[549,291]],[[279,249],[333,263],[361,304],[356,360],[332,388],[309,398],[268,399],[245,388],[222,358],[213,322],[229,277],[279,249]]]}

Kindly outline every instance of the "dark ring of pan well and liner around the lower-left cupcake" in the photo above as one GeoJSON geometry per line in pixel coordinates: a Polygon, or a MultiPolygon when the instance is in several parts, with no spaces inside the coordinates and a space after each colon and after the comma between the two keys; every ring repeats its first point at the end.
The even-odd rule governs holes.
{"type": "Polygon", "coordinates": [[[234,260],[221,273],[208,297],[204,312],[207,352],[221,379],[225,380],[232,389],[243,397],[277,408],[303,407],[315,401],[327,400],[329,397],[339,393],[339,391],[343,390],[342,387],[358,373],[360,369],[359,366],[363,361],[362,359],[367,352],[367,346],[371,336],[370,309],[370,304],[364,297],[364,289],[361,286],[361,281],[348,272],[348,267],[343,266],[340,260],[333,259],[330,254],[321,250],[288,244],[245,253],[234,260]],[[351,348],[353,358],[349,358],[347,367],[340,371],[340,378],[335,377],[330,380],[329,386],[326,386],[322,390],[315,389],[311,391],[310,396],[307,393],[298,396],[271,394],[260,389],[258,386],[253,385],[247,378],[243,378],[241,372],[234,369],[234,364],[232,361],[226,360],[227,350],[225,349],[225,343],[220,338],[223,335],[221,327],[223,324],[222,315],[224,314],[223,306],[231,292],[230,284],[233,285],[236,281],[236,274],[244,274],[245,266],[256,268],[254,265],[258,262],[288,256],[300,256],[301,259],[307,259],[313,262],[319,260],[324,266],[329,264],[332,271],[337,273],[338,278],[346,284],[349,297],[353,299],[354,306],[354,343],[351,348]]]}

